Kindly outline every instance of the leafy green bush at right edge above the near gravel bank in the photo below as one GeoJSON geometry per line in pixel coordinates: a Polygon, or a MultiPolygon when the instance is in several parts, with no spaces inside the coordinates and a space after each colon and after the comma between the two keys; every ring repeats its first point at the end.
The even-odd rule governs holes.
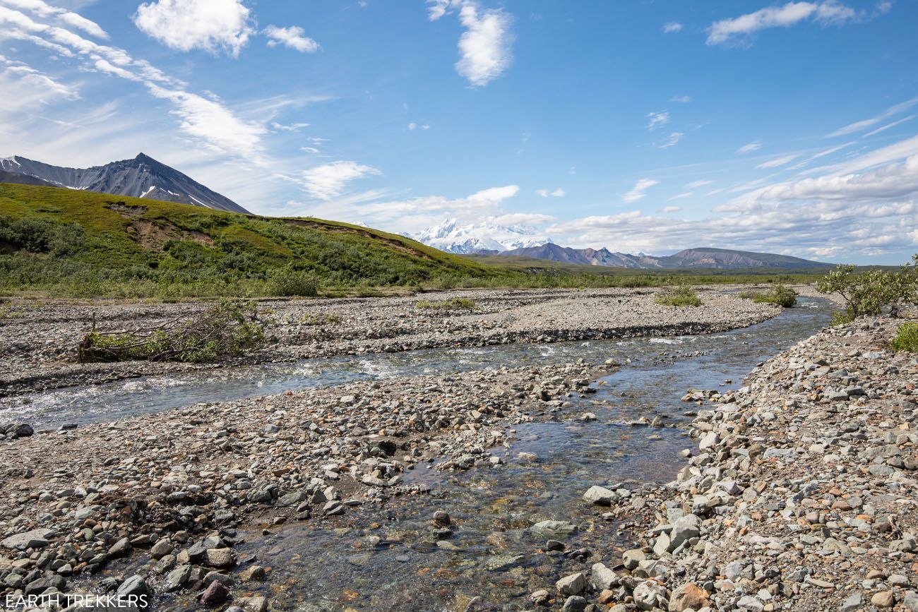
{"type": "Polygon", "coordinates": [[[845,309],[835,313],[836,325],[865,315],[876,316],[884,310],[898,316],[902,306],[918,304],[918,255],[912,264],[898,271],[868,270],[856,272],[855,266],[842,264],[816,284],[823,294],[837,294],[845,309]]]}

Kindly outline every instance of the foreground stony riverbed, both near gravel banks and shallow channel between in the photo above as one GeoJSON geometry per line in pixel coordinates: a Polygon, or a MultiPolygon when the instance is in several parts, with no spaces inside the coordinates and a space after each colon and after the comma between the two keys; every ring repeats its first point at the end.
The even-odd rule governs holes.
{"type": "Polygon", "coordinates": [[[632,364],[597,359],[599,344],[580,362],[0,441],[0,594],[109,590],[250,612],[912,609],[918,371],[885,349],[893,322],[823,332],[742,389],[728,377],[692,390],[685,419],[654,409],[639,382],[681,384],[657,392],[657,407],[679,403],[687,382],[716,384],[716,360],[754,364],[767,346],[756,333],[782,320],[711,337],[720,354],[686,350],[708,337],[645,340],[655,352],[632,364]],[[700,447],[676,481],[655,484],[693,446],[684,431],[700,447]],[[602,477],[610,461],[614,480],[602,477]]]}

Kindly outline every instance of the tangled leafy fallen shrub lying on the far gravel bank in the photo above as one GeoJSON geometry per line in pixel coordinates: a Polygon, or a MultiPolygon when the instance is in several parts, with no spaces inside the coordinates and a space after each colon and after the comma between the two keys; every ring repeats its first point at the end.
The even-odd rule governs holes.
{"type": "Polygon", "coordinates": [[[77,348],[81,363],[212,362],[263,344],[264,326],[253,303],[220,302],[198,317],[161,328],[105,333],[95,330],[77,348]]]}

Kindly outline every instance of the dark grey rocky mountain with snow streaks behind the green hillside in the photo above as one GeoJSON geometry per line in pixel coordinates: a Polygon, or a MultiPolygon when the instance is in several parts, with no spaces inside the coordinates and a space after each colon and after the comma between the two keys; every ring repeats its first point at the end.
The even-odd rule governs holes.
{"type": "Polygon", "coordinates": [[[67,187],[249,213],[227,196],[143,153],[92,168],[62,168],[14,155],[0,159],[0,183],[67,187]]]}

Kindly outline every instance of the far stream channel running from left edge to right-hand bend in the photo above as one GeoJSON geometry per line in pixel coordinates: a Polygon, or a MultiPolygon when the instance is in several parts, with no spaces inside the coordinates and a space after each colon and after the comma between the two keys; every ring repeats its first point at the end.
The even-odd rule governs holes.
{"type": "Polygon", "coordinates": [[[588,362],[608,358],[644,362],[664,352],[711,351],[722,341],[734,346],[751,341],[748,350],[756,353],[756,360],[761,360],[779,351],[780,348],[773,349],[784,346],[782,342],[786,344],[790,339],[809,335],[808,330],[818,329],[828,320],[828,305],[821,300],[805,299],[802,305],[765,323],[716,336],[427,349],[265,363],[65,387],[0,398],[0,422],[17,420],[35,428],[56,428],[64,423],[81,425],[117,420],[197,402],[229,401],[359,380],[480,370],[503,364],[573,362],[581,357],[588,362]]]}

